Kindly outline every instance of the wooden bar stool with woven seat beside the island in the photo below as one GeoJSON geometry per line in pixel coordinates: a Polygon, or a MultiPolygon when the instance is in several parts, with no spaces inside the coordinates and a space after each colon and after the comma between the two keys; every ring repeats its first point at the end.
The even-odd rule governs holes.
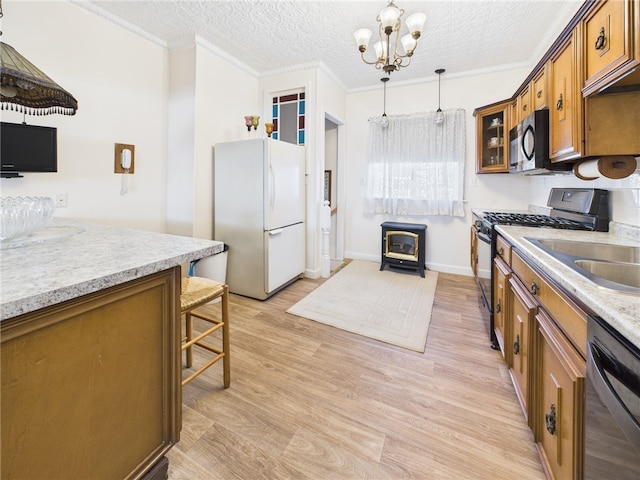
{"type": "Polygon", "coordinates": [[[182,380],[182,386],[185,386],[218,360],[222,360],[224,388],[229,388],[231,383],[231,360],[229,356],[229,287],[208,278],[182,277],[180,310],[186,320],[186,335],[182,338],[182,351],[186,351],[187,368],[193,365],[194,346],[215,354],[215,356],[205,362],[203,366],[182,380]],[[199,308],[216,298],[221,299],[221,318],[216,318],[206,311],[206,309],[199,308]],[[208,322],[213,326],[194,337],[194,318],[208,322]],[[205,337],[208,337],[218,330],[222,330],[222,349],[203,341],[205,337]]]}

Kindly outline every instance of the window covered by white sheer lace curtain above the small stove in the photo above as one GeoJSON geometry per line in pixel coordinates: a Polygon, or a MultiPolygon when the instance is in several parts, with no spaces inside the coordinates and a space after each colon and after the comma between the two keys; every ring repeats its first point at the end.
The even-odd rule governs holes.
{"type": "Polygon", "coordinates": [[[465,112],[369,120],[365,211],[463,217],[465,112]],[[386,120],[386,122],[385,122],[386,120]]]}

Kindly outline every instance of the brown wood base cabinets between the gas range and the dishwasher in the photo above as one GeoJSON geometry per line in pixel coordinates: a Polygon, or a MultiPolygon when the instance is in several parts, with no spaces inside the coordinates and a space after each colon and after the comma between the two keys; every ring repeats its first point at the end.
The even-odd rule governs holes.
{"type": "MultiPolygon", "coordinates": [[[[508,245],[502,237],[499,244],[508,245]]],[[[508,285],[503,321],[509,374],[547,477],[580,479],[587,314],[518,250],[503,253],[494,268],[501,279],[496,282],[508,285]]]]}

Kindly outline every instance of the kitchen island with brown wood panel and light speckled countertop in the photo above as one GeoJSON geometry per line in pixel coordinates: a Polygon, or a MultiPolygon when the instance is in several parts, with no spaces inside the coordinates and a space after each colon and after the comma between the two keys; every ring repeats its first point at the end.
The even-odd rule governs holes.
{"type": "Polygon", "coordinates": [[[54,219],[0,250],[2,478],[166,478],[181,265],[224,244],[54,219]]]}

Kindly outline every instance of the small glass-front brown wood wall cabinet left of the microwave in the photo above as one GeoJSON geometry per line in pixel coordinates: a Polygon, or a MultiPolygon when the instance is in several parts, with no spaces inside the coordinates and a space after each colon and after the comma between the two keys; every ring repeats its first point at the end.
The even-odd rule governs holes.
{"type": "Polygon", "coordinates": [[[476,173],[509,171],[509,103],[476,109],[476,173]]]}

